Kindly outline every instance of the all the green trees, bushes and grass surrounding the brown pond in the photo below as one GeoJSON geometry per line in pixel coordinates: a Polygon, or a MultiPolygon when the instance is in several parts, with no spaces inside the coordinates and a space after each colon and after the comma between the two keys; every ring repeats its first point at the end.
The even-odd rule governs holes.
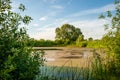
{"type": "MultiPolygon", "coordinates": [[[[70,24],[64,24],[56,28],[56,40],[34,40],[29,38],[25,27],[21,24],[29,24],[32,20],[29,16],[21,16],[12,11],[10,0],[0,0],[0,79],[1,80],[119,80],[120,74],[120,1],[116,0],[115,13],[107,11],[99,18],[108,19],[105,24],[108,33],[101,40],[86,40],[79,28],[70,24]],[[32,47],[40,46],[78,46],[102,48],[102,52],[93,51],[93,59],[88,68],[56,68],[53,73],[72,72],[72,76],[56,77],[42,74],[41,66],[44,66],[44,52],[34,51],[32,47]],[[61,71],[60,71],[61,70],[61,71]],[[74,75],[73,75],[74,73],[74,75]],[[79,74],[79,75],[78,75],[79,74]]],[[[20,4],[20,11],[25,6],[20,4]]],[[[45,69],[48,70],[48,69],[45,69]]],[[[52,69],[51,69],[52,70],[52,69]]],[[[51,72],[52,73],[52,72],[51,72]]]]}

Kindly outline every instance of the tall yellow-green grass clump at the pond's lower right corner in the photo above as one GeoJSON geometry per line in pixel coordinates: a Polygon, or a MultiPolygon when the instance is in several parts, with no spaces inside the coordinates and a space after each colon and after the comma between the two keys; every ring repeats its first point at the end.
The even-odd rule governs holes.
{"type": "Polygon", "coordinates": [[[91,66],[94,80],[120,80],[117,72],[120,70],[120,67],[116,68],[116,66],[119,66],[119,62],[116,63],[116,58],[110,58],[107,54],[102,52],[100,54],[94,51],[91,66]]]}

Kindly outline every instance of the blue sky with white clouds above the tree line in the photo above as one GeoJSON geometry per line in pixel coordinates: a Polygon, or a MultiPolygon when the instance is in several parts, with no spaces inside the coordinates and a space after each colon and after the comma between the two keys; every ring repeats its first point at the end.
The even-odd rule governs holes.
{"type": "Polygon", "coordinates": [[[55,29],[71,24],[81,29],[85,39],[100,39],[106,20],[98,19],[108,10],[114,11],[114,0],[12,0],[13,11],[22,3],[26,10],[22,15],[33,18],[27,28],[31,38],[55,39],[55,29]]]}

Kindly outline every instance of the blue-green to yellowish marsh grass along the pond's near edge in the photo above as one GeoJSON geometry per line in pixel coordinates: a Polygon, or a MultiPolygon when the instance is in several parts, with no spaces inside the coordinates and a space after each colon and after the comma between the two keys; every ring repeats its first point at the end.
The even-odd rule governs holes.
{"type": "MultiPolygon", "coordinates": [[[[71,60],[69,60],[71,61],[71,60]]],[[[67,64],[68,61],[65,62],[67,64]]],[[[86,60],[86,67],[73,66],[43,66],[36,80],[120,80],[119,75],[109,72],[105,57],[93,51],[93,57],[86,60]]]]}

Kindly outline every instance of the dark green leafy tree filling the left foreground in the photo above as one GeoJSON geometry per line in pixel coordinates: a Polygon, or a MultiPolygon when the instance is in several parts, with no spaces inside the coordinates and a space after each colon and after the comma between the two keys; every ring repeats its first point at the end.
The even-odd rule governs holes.
{"type": "MultiPolygon", "coordinates": [[[[43,65],[43,52],[27,46],[29,36],[21,24],[29,24],[29,16],[12,12],[10,0],[0,0],[0,79],[33,80],[43,65]]],[[[20,4],[19,9],[25,10],[20,4]]]]}

